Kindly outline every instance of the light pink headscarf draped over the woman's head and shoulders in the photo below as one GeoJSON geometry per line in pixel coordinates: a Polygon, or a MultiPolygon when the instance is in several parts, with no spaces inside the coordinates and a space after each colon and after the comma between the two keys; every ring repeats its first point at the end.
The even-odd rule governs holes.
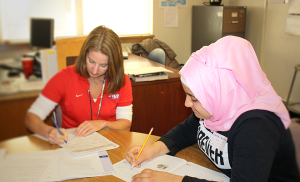
{"type": "Polygon", "coordinates": [[[190,56],[179,73],[212,115],[204,124],[213,131],[228,131],[242,113],[254,109],[274,112],[285,128],[291,122],[245,39],[226,36],[204,46],[190,56]]]}

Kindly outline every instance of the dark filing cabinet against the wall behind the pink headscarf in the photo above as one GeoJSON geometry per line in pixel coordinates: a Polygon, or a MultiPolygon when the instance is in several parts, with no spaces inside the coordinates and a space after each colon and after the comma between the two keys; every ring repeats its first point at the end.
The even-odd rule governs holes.
{"type": "Polygon", "coordinates": [[[245,38],[246,9],[245,6],[193,6],[192,52],[226,35],[245,38]]]}

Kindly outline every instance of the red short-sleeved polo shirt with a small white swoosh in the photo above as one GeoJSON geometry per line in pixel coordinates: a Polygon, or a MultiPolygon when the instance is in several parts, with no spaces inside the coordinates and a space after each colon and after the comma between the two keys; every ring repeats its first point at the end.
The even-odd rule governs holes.
{"type": "MultiPolygon", "coordinates": [[[[106,81],[107,86],[109,80],[106,81]]],[[[62,127],[74,128],[84,121],[91,120],[89,99],[90,83],[87,78],[75,72],[74,65],[59,71],[44,87],[42,95],[59,103],[62,108],[62,127]]],[[[93,120],[97,118],[101,94],[97,101],[91,98],[93,120]]],[[[114,95],[104,94],[99,120],[116,121],[116,108],[132,104],[132,87],[125,74],[125,85],[114,95]]]]}

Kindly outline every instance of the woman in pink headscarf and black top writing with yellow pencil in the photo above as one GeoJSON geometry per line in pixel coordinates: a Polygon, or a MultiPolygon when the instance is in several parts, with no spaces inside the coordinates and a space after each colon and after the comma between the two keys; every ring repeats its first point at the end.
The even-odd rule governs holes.
{"type": "MultiPolygon", "coordinates": [[[[290,117],[261,70],[252,45],[226,36],[193,53],[180,70],[185,106],[193,110],[155,144],[133,146],[126,159],[141,162],[198,143],[230,181],[300,181],[290,117]]],[[[206,181],[150,169],[133,181],[206,181]]]]}

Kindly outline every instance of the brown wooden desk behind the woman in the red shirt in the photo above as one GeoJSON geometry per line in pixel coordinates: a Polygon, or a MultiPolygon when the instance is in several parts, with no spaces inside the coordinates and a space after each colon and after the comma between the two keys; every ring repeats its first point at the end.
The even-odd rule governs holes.
{"type": "MultiPolygon", "coordinates": [[[[129,53],[128,59],[124,60],[124,66],[131,69],[163,65],[129,53]]],[[[167,73],[167,80],[132,82],[131,131],[148,133],[151,127],[154,127],[153,134],[162,136],[192,113],[190,108],[184,106],[185,93],[178,70],[166,68],[174,72],[167,73]]],[[[0,95],[0,141],[31,133],[26,129],[24,119],[39,93],[40,91],[31,91],[0,95]]],[[[53,124],[51,114],[45,121],[53,124]]]]}

